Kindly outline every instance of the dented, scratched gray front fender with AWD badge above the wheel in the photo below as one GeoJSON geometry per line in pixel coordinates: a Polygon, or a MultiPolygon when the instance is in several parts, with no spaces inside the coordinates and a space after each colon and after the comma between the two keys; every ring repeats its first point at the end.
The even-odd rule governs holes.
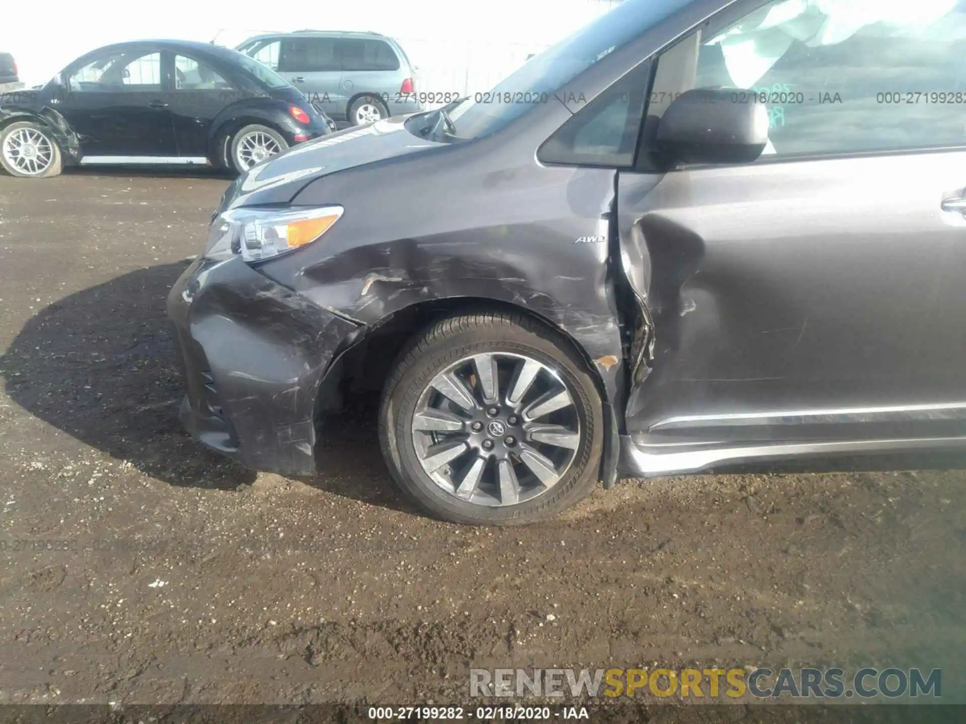
{"type": "Polygon", "coordinates": [[[386,181],[404,173],[421,180],[414,195],[401,194],[398,181],[374,183],[372,169],[310,183],[295,206],[363,199],[365,209],[347,207],[324,253],[292,254],[260,270],[370,327],[438,300],[512,304],[572,339],[622,410],[621,315],[608,244],[613,172],[507,168],[498,158],[481,163],[478,153],[475,171],[456,158],[423,168],[435,161],[427,154],[383,162],[386,181]],[[391,239],[386,218],[393,220],[391,239]]]}

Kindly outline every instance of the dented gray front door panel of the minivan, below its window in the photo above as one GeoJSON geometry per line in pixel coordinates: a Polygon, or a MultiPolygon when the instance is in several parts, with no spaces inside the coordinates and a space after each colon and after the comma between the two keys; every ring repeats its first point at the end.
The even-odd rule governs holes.
{"type": "Polygon", "coordinates": [[[923,153],[621,174],[622,256],[654,327],[628,432],[961,432],[966,221],[941,203],[964,168],[966,153],[923,153]]]}

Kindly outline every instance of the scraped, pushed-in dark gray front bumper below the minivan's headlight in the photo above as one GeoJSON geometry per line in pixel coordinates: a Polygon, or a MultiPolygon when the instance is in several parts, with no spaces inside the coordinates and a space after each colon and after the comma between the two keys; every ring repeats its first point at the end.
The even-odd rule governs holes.
{"type": "Polygon", "coordinates": [[[187,394],[182,424],[258,470],[315,473],[324,379],[361,326],[241,259],[199,258],[168,295],[187,394]]]}

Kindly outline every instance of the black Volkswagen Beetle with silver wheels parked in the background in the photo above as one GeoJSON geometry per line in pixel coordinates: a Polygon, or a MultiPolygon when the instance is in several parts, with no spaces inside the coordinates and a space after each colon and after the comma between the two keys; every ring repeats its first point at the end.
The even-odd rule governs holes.
{"type": "Polygon", "coordinates": [[[0,95],[0,165],[207,164],[238,172],[325,135],[331,120],[258,61],[204,42],[107,45],[43,88],[0,95]]]}

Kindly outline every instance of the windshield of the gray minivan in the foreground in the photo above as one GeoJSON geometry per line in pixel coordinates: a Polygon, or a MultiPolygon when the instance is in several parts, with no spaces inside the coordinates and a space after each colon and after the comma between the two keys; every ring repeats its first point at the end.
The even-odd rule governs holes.
{"type": "Polygon", "coordinates": [[[691,0],[626,0],[526,61],[491,91],[469,97],[449,116],[459,138],[479,138],[497,131],[526,113],[535,103],[553,100],[554,92],[611,51],[691,0]]]}

